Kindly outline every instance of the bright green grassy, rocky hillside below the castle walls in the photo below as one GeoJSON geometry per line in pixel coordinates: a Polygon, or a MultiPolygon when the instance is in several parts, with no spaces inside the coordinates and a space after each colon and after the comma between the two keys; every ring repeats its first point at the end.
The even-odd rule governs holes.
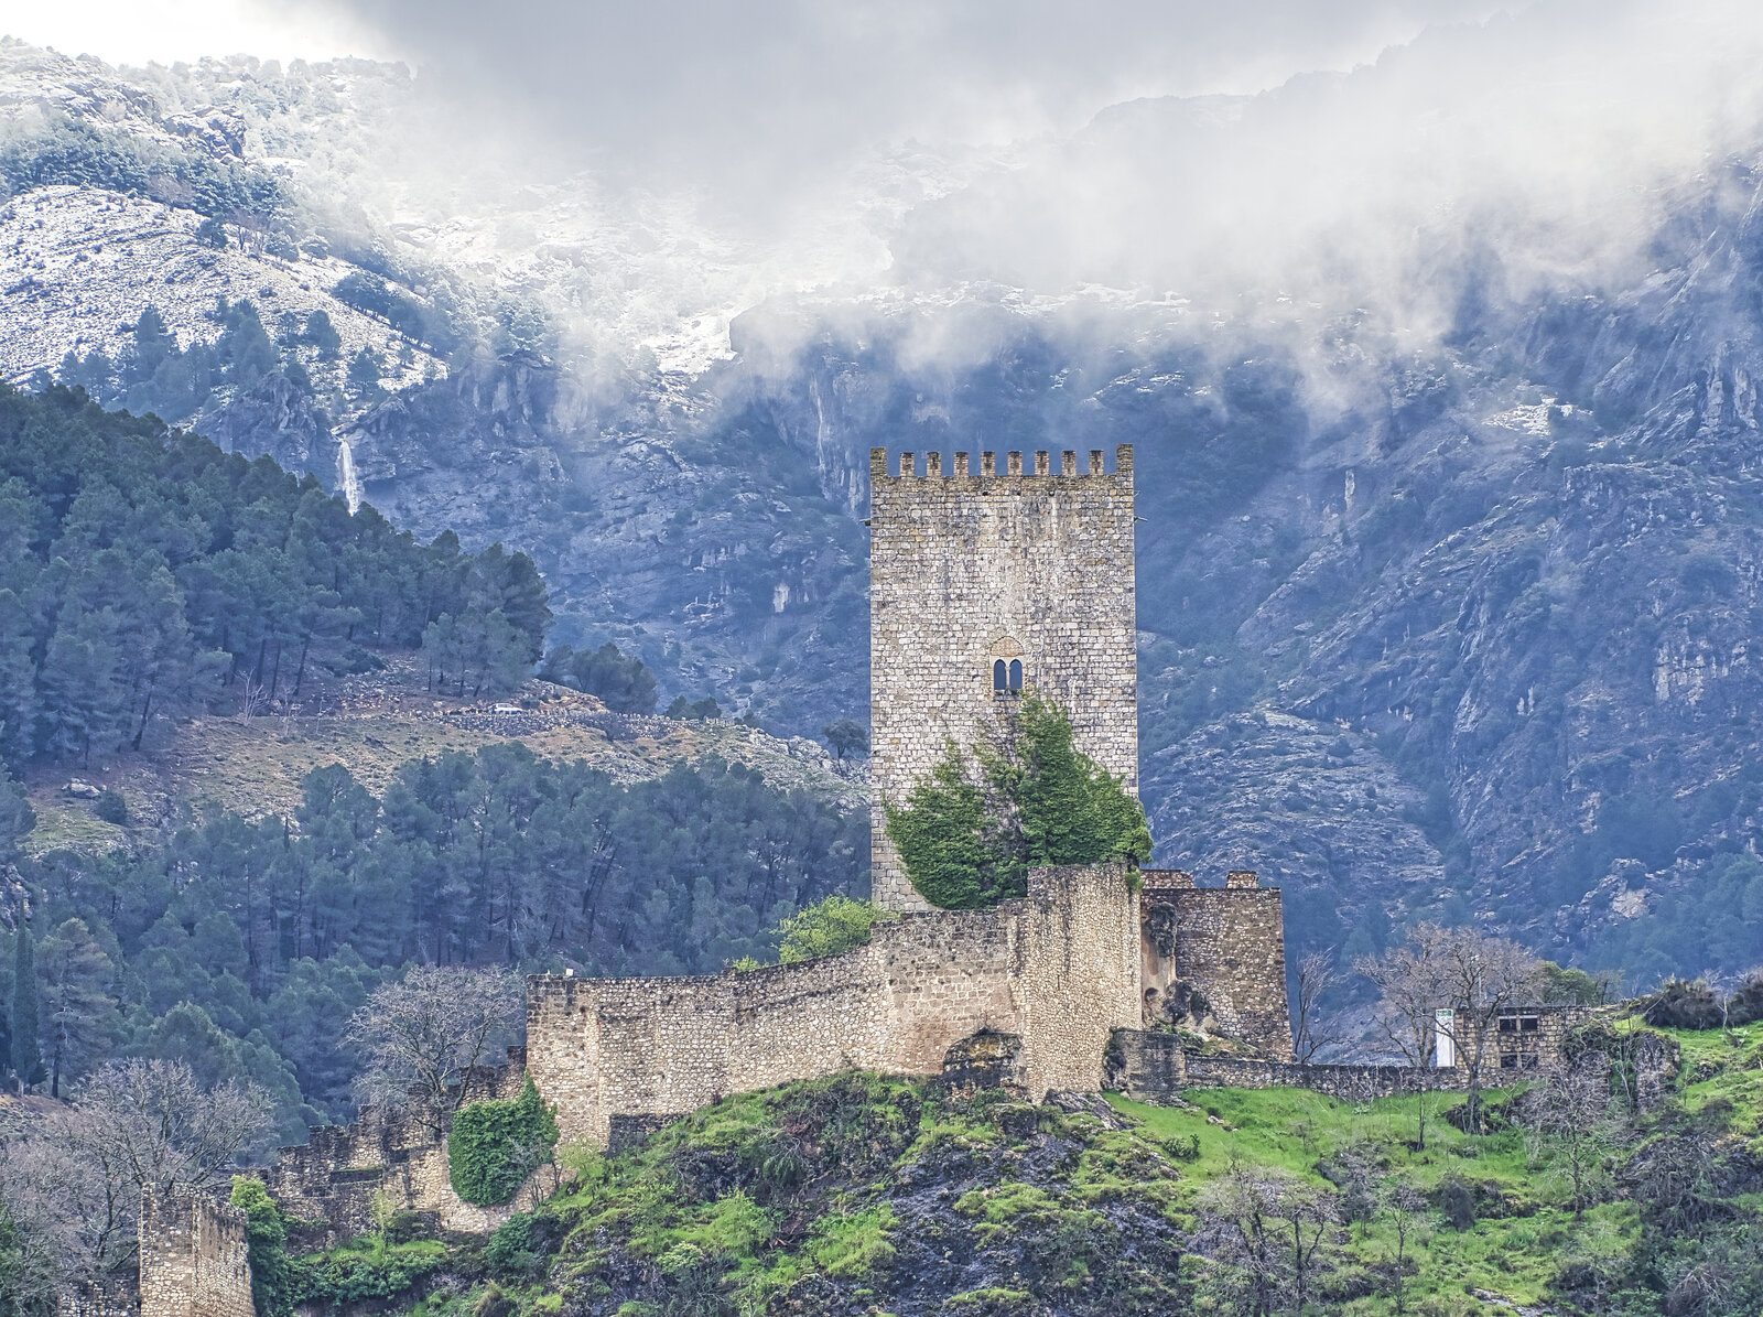
{"type": "Polygon", "coordinates": [[[566,1153],[562,1190],[487,1243],[437,1248],[397,1222],[307,1255],[289,1298],[425,1317],[1294,1312],[1296,1220],[1315,1241],[1308,1312],[1756,1313],[1763,1026],[1673,1037],[1680,1090],[1604,1150],[1578,1213],[1558,1146],[1516,1125],[1467,1135],[1437,1120],[1454,1097],[1419,1150],[1414,1098],[1037,1107],[853,1074],[726,1098],[614,1157],[566,1153]]]}

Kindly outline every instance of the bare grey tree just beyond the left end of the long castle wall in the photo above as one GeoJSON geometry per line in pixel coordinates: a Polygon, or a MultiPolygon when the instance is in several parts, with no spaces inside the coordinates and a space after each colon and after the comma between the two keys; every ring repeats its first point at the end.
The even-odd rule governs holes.
{"type": "Polygon", "coordinates": [[[511,970],[418,964],[372,991],[349,1019],[365,1054],[356,1097],[384,1107],[451,1111],[472,1067],[515,1038],[522,982],[511,970]]]}

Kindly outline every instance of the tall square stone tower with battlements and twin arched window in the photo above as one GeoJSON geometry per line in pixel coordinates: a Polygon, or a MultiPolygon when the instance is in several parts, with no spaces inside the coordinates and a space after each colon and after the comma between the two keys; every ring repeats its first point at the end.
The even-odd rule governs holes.
{"type": "Polygon", "coordinates": [[[929,910],[887,839],[883,800],[904,804],[954,740],[1033,686],[1072,716],[1077,749],[1139,788],[1132,446],[1105,471],[1077,453],[913,453],[889,471],[869,450],[871,890],[887,910],[929,910]]]}

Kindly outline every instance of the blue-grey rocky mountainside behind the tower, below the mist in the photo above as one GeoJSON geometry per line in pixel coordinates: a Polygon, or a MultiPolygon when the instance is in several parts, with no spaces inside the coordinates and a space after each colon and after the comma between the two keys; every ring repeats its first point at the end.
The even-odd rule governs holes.
{"type": "Polygon", "coordinates": [[[1638,973],[1740,964],[1763,252],[1749,199],[1708,227],[1634,289],[1483,310],[1421,360],[998,312],[963,372],[906,363],[910,321],[779,365],[762,309],[691,381],[480,356],[346,437],[402,522],[536,552],[561,638],[807,732],[867,700],[871,444],[1134,443],[1162,860],[1283,882],[1296,950],[1446,913],[1638,973]]]}

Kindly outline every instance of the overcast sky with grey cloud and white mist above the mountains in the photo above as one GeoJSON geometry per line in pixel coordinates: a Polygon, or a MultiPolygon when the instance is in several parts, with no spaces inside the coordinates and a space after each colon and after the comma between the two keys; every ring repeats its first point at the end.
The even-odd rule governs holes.
{"type": "MultiPolygon", "coordinates": [[[[1596,282],[1647,259],[1673,189],[1763,148],[1759,0],[0,0],[0,32],[111,62],[405,60],[457,127],[427,167],[691,196],[758,294],[841,270],[1253,287],[1425,324],[1477,243],[1520,280],[1596,282]],[[1157,100],[1202,93],[1255,99],[1157,100]],[[873,206],[852,178],[910,141],[936,182],[873,206]]],[[[656,270],[631,296],[716,310],[656,270]]]]}

